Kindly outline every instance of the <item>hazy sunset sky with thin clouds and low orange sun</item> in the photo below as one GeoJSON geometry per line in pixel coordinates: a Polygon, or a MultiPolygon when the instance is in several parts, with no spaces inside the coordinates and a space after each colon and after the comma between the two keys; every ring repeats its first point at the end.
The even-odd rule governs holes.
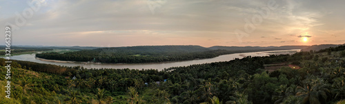
{"type": "Polygon", "coordinates": [[[11,26],[12,45],[343,44],[344,4],[341,0],[0,0],[0,32],[11,26]]]}

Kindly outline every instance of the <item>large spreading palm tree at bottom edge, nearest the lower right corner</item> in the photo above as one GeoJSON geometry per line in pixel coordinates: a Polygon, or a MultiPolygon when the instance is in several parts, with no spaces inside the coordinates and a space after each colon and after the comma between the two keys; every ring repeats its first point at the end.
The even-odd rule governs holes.
{"type": "Polygon", "coordinates": [[[329,84],[327,81],[311,76],[311,79],[306,79],[306,82],[304,87],[298,86],[299,92],[296,94],[297,96],[302,96],[302,103],[318,104],[326,101],[326,93],[330,92],[328,90],[329,84]]]}

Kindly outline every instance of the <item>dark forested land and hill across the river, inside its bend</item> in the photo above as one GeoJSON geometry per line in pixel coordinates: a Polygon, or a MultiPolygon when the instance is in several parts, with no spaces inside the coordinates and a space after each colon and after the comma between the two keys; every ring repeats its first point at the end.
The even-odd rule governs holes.
{"type": "Polygon", "coordinates": [[[61,61],[92,61],[100,63],[159,63],[165,61],[187,61],[193,59],[208,59],[223,54],[239,52],[258,52],[268,50],[301,49],[306,46],[285,47],[221,47],[204,48],[198,45],[162,45],[162,46],[135,46],[121,48],[98,48],[94,50],[81,50],[78,52],[46,52],[36,54],[43,59],[61,61]]]}

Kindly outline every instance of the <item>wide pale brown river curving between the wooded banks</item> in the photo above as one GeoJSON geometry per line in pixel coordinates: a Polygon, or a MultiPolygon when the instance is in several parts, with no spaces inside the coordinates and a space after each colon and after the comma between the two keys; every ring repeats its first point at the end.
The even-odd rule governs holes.
{"type": "Polygon", "coordinates": [[[230,61],[236,58],[242,59],[244,56],[268,56],[269,54],[294,54],[295,52],[299,52],[300,50],[277,50],[277,51],[264,51],[264,52],[246,52],[246,53],[237,53],[237,54],[225,54],[221,56],[217,56],[211,59],[197,59],[192,61],[177,61],[177,62],[166,62],[166,63],[117,63],[117,64],[110,64],[110,63],[80,63],[80,62],[66,62],[66,61],[46,61],[42,59],[35,58],[35,54],[21,54],[18,56],[11,56],[11,59],[20,60],[20,61],[31,61],[36,63],[47,63],[52,65],[65,65],[65,66],[82,66],[88,69],[90,68],[114,68],[114,69],[157,69],[157,70],[164,70],[164,68],[168,67],[179,67],[179,66],[188,66],[193,64],[201,64],[201,63],[213,63],[219,61],[230,61]]]}

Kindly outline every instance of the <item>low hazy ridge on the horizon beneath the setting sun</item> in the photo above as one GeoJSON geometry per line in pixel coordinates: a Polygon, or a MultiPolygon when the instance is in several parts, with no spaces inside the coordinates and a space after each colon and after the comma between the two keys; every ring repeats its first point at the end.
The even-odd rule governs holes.
{"type": "Polygon", "coordinates": [[[270,46],[270,47],[251,47],[251,46],[246,46],[246,47],[237,47],[237,46],[213,46],[210,47],[210,50],[260,50],[260,51],[265,51],[265,50],[293,50],[293,49],[304,49],[308,48],[309,46],[307,45],[286,45],[286,46],[280,46],[280,47],[275,47],[275,46],[270,46]]]}

